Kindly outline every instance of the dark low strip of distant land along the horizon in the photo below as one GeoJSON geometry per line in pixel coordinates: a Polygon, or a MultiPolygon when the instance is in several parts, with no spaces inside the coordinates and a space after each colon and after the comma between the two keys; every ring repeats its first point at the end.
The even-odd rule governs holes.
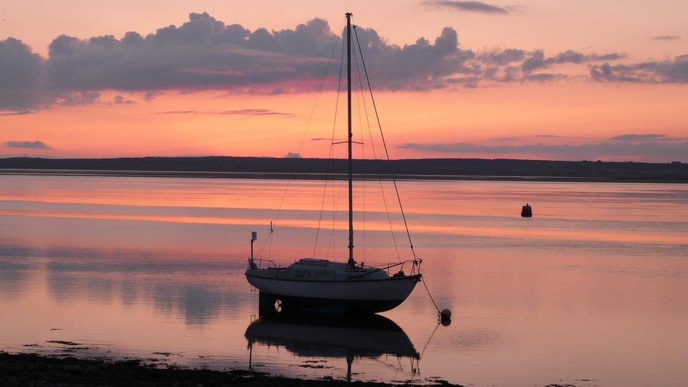
{"type": "MultiPolygon", "coordinates": [[[[134,176],[340,180],[343,159],[271,157],[131,157],[118,159],[0,159],[2,175],[134,176]]],[[[601,183],[688,183],[688,164],[510,159],[354,160],[356,180],[497,180],[601,183]]]]}

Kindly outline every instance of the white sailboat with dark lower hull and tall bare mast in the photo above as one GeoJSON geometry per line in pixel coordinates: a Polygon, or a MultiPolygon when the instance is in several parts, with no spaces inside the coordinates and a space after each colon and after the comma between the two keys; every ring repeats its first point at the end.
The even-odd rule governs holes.
{"type": "MultiPolygon", "coordinates": [[[[383,267],[358,264],[354,259],[351,16],[351,13],[346,13],[345,32],[348,97],[348,141],[346,143],[348,144],[349,259],[348,262],[331,262],[326,259],[303,258],[287,267],[277,266],[272,261],[254,259],[253,242],[257,237],[254,232],[251,238],[249,267],[245,275],[247,281],[259,290],[259,302],[262,306],[269,307],[277,303],[284,311],[334,309],[340,312],[364,314],[384,312],[404,302],[422,278],[420,274],[422,259],[415,257],[415,254],[412,260],[383,267]],[[409,266],[410,269],[407,269],[409,266]],[[407,269],[407,272],[404,269],[407,269]]],[[[393,181],[396,189],[396,182],[393,181]]],[[[405,221],[403,208],[401,211],[405,221]]],[[[408,235],[410,240],[410,234],[408,235]]]]}

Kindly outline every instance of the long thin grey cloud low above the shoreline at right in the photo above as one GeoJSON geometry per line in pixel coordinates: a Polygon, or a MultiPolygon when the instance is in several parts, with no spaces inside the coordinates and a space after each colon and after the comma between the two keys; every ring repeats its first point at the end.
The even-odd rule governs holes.
{"type": "MultiPolygon", "coordinates": [[[[506,140],[506,139],[503,139],[506,140]]],[[[581,145],[571,144],[524,144],[483,145],[468,142],[453,143],[407,143],[399,146],[450,154],[529,154],[555,159],[647,159],[653,161],[688,160],[688,141],[684,138],[665,135],[620,135],[610,140],[581,145]]]]}

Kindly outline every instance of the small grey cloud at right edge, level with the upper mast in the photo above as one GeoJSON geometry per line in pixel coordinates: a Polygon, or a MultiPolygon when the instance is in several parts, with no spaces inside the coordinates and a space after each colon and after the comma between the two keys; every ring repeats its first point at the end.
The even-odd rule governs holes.
{"type": "Polygon", "coordinates": [[[688,83],[688,55],[627,65],[603,63],[592,66],[590,76],[598,82],[688,83]]]}

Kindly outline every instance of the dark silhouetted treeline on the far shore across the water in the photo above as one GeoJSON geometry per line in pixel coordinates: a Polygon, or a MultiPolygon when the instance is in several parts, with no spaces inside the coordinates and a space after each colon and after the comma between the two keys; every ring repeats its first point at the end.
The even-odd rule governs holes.
{"type": "MultiPolygon", "coordinates": [[[[345,159],[273,157],[123,157],[115,159],[0,159],[4,169],[179,171],[234,173],[346,173],[345,159]]],[[[688,164],[512,159],[354,160],[357,175],[503,176],[688,182],[688,164]]]]}

